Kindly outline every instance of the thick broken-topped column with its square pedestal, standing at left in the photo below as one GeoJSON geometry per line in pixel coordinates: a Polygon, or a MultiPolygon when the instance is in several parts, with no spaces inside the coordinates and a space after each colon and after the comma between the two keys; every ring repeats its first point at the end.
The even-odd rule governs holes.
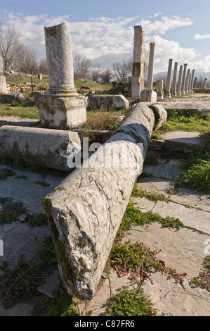
{"type": "Polygon", "coordinates": [[[42,127],[70,130],[86,121],[87,101],[74,88],[72,39],[65,23],[44,27],[48,92],[37,101],[42,127]]]}

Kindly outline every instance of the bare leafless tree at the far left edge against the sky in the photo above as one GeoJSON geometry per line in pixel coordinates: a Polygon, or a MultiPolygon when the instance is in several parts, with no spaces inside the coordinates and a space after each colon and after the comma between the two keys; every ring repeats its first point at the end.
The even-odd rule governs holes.
{"type": "Polygon", "coordinates": [[[24,52],[22,36],[15,25],[4,18],[0,21],[0,56],[3,60],[4,71],[13,65],[13,62],[24,52]]]}

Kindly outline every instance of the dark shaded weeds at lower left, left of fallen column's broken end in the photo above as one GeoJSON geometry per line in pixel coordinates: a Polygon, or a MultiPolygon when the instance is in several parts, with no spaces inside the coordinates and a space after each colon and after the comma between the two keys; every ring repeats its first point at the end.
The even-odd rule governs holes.
{"type": "Polygon", "coordinates": [[[57,266],[55,249],[51,238],[41,244],[37,260],[33,264],[24,261],[21,256],[17,266],[10,270],[6,262],[1,263],[4,276],[0,277],[1,302],[4,308],[10,308],[22,295],[32,296],[41,280],[49,277],[57,266]]]}

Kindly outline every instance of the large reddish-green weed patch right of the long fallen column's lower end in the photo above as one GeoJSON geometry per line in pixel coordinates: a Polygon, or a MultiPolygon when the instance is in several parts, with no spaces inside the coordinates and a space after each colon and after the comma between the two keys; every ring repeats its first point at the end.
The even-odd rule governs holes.
{"type": "Polygon", "coordinates": [[[153,284],[151,273],[157,271],[183,282],[186,273],[178,274],[176,270],[167,268],[164,261],[158,260],[156,257],[160,251],[151,251],[143,242],[131,244],[129,240],[124,244],[120,243],[112,247],[110,263],[117,270],[119,277],[130,273],[130,280],[137,280],[140,277],[141,283],[148,278],[153,284]]]}

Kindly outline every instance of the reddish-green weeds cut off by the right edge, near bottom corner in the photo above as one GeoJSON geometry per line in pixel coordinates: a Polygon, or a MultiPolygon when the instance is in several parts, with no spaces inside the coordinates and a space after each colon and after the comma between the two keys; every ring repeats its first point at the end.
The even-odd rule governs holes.
{"type": "Polygon", "coordinates": [[[193,287],[202,287],[210,292],[210,255],[206,256],[203,263],[203,270],[198,277],[193,277],[190,280],[190,285],[193,287]]]}

